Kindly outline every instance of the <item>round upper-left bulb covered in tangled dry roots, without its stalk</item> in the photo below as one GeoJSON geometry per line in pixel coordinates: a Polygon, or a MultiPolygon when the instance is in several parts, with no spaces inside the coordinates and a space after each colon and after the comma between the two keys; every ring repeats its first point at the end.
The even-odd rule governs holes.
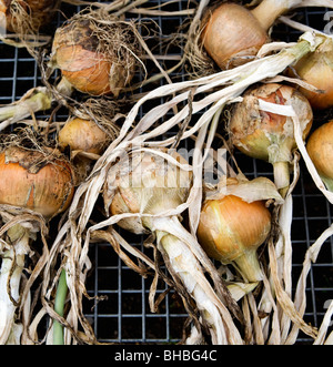
{"type": "Polygon", "coordinates": [[[57,29],[50,64],[82,93],[118,96],[134,75],[135,48],[132,26],[98,11],[78,13],[57,29]]]}

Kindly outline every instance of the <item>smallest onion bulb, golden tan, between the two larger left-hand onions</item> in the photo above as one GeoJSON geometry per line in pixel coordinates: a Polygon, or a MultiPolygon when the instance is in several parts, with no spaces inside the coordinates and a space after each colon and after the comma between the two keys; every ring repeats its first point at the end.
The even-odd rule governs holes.
{"type": "Polygon", "coordinates": [[[94,121],[74,118],[59,131],[59,147],[100,154],[108,142],[108,134],[94,121]]]}

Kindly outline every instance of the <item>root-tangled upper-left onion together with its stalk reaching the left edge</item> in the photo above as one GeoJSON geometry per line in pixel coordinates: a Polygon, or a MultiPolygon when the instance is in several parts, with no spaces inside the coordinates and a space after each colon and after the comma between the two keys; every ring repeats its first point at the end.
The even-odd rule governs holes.
{"type": "Polygon", "coordinates": [[[80,91],[92,96],[118,98],[134,77],[140,60],[135,24],[101,10],[77,13],[54,34],[52,53],[46,71],[49,78],[61,71],[60,82],[29,90],[19,101],[0,109],[0,130],[47,111],[54,101],[80,91]]]}

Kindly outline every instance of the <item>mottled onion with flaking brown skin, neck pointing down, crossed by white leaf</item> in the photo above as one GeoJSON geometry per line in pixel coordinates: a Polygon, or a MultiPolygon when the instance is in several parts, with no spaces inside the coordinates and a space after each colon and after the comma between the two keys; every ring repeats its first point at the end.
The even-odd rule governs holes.
{"type": "Polygon", "coordinates": [[[292,119],[279,114],[284,105],[294,109],[305,140],[312,128],[312,108],[307,99],[290,85],[268,83],[252,88],[244,93],[242,102],[236,103],[229,123],[234,146],[273,165],[274,182],[282,196],[290,187],[290,164],[296,147],[292,119]]]}

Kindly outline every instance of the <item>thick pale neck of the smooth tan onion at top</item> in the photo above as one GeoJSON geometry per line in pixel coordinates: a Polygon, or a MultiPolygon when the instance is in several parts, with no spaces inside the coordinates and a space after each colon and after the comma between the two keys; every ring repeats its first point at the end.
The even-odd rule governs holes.
{"type": "Polygon", "coordinates": [[[263,0],[251,12],[268,31],[280,16],[301,2],[301,0],[263,0]]]}

